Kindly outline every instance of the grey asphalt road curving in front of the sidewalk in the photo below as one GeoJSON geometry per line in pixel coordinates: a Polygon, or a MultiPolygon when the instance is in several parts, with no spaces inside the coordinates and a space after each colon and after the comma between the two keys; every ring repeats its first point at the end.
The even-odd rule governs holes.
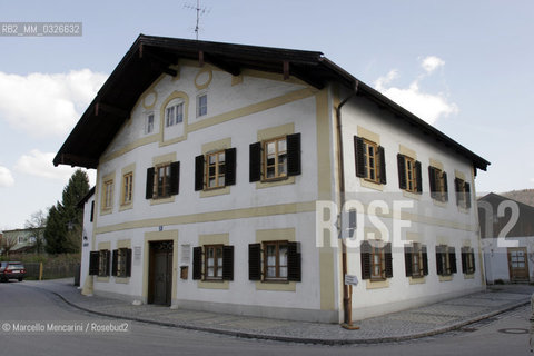
{"type": "Polygon", "coordinates": [[[528,346],[528,317],[530,307],[522,307],[431,338],[334,347],[239,339],[106,318],[11,281],[0,284],[0,355],[534,355],[528,346]],[[106,329],[126,326],[126,333],[106,329]],[[91,332],[91,327],[100,329],[91,332]]]}

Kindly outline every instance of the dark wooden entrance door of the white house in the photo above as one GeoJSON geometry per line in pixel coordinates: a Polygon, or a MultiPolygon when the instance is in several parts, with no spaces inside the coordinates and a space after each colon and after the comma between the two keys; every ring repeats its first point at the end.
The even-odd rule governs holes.
{"type": "Polygon", "coordinates": [[[170,306],[172,295],[172,241],[150,243],[148,303],[170,306]]]}

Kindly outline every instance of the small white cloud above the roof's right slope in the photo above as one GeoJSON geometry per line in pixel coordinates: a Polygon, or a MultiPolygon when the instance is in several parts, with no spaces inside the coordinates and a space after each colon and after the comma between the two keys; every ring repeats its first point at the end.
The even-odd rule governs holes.
{"type": "MultiPolygon", "coordinates": [[[[427,75],[444,65],[443,60],[434,56],[426,57],[422,61],[422,67],[427,75]]],[[[375,89],[431,125],[434,125],[439,118],[458,112],[458,106],[451,102],[443,92],[434,95],[421,91],[419,81],[426,76],[417,77],[407,88],[392,85],[397,77],[398,70],[390,70],[375,81],[375,89]]]]}

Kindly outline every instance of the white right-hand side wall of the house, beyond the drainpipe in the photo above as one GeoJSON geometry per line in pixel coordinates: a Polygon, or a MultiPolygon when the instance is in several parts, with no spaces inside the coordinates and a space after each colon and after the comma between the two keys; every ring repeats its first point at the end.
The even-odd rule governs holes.
{"type": "MultiPolygon", "coordinates": [[[[394,209],[395,201],[413,204],[413,208],[404,208],[402,211],[415,215],[419,220],[424,219],[411,221],[411,226],[402,228],[400,235],[397,235],[399,238],[393,241],[394,277],[388,279],[387,288],[369,289],[369,283],[360,280],[359,285],[353,289],[353,317],[366,318],[483,288],[477,209],[469,161],[360,97],[350,100],[344,107],[343,130],[347,199],[360,201],[365,207],[368,207],[372,201],[380,200],[389,209],[387,211],[389,216],[380,218],[373,216],[366,209],[365,227],[374,229],[375,224],[369,220],[370,215],[373,218],[378,218],[380,224],[387,227],[386,230],[394,231],[395,219],[392,218],[392,214],[399,211],[394,209]],[[358,136],[358,126],[379,135],[379,145],[385,148],[387,184],[383,186],[382,191],[362,186],[360,178],[356,177],[354,136],[358,136]],[[399,145],[414,150],[417,154],[417,160],[422,164],[423,194],[418,198],[405,197],[398,187],[399,145]],[[434,204],[429,195],[431,158],[441,161],[447,172],[448,202],[444,205],[434,204]],[[456,205],[455,170],[463,172],[466,181],[473,187],[472,208],[468,211],[458,209],[456,205]],[[469,229],[454,227],[454,225],[468,226],[469,229]],[[421,243],[427,247],[428,276],[425,277],[424,284],[411,285],[409,278],[405,275],[404,244],[409,239],[407,234],[418,234],[422,238],[421,243]],[[436,273],[435,246],[443,243],[454,246],[456,251],[458,273],[451,281],[439,281],[436,273]],[[463,246],[471,246],[475,250],[474,278],[466,278],[462,273],[461,248],[463,246]]],[[[407,218],[409,217],[403,219],[407,218]]],[[[362,239],[354,244],[359,247],[360,241],[362,239]]],[[[360,250],[357,248],[348,256],[348,274],[362,278],[360,269],[360,250]]]]}

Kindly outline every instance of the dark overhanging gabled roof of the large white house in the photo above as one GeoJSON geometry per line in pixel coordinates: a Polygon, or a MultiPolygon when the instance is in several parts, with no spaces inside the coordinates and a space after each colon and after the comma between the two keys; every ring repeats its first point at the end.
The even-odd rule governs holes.
{"type": "Polygon", "coordinates": [[[290,75],[318,89],[328,82],[338,82],[349,89],[358,88],[358,96],[367,97],[392,111],[396,118],[466,157],[474,167],[486,170],[490,165],[375,89],[359,82],[322,52],[145,34],[137,38],[103,83],[56,155],[53,165],[97,168],[100,156],[128,119],[138,98],[161,73],[175,76],[176,71],[170,66],[180,58],[209,62],[234,76],[246,68],[290,75]]]}

